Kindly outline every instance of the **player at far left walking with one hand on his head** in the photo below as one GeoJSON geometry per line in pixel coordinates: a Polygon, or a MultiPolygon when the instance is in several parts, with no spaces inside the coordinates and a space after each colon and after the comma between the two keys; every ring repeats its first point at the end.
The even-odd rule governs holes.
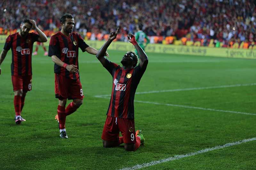
{"type": "MultiPolygon", "coordinates": [[[[0,55],[0,66],[4,61],[7,52],[12,49],[12,86],[14,91],[15,122],[20,124],[26,121],[20,115],[25,96],[32,89],[32,66],[31,55],[34,42],[46,42],[46,35],[36,26],[36,21],[25,19],[20,24],[20,31],[9,35],[5,41],[4,49],[0,55]],[[30,29],[35,29],[36,33],[29,33],[30,29]]],[[[1,68],[0,68],[1,74],[1,68]]]]}

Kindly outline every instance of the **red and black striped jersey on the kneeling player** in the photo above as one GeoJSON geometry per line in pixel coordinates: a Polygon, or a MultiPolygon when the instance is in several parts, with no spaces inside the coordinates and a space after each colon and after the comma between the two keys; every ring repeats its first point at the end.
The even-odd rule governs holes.
{"type": "Polygon", "coordinates": [[[108,116],[134,119],[134,95],[146,67],[139,65],[124,70],[116,63],[106,60],[105,68],[113,77],[112,94],[108,106],[108,116]]]}

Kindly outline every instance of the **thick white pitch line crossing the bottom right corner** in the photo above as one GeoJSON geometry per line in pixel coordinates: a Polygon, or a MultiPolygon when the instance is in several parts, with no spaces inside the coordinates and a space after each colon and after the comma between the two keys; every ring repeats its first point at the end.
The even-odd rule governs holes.
{"type": "Polygon", "coordinates": [[[255,141],[255,140],[256,140],[256,137],[250,138],[250,139],[244,139],[244,140],[236,141],[236,142],[233,142],[233,143],[227,143],[227,144],[224,144],[224,145],[221,145],[221,146],[219,145],[219,146],[215,146],[215,147],[212,147],[212,148],[206,148],[206,149],[203,149],[203,150],[200,150],[200,151],[197,151],[197,152],[190,152],[190,153],[187,153],[185,155],[175,155],[173,157],[169,157],[169,158],[166,158],[166,159],[160,159],[160,160],[156,160],[156,161],[151,161],[149,163],[138,164],[138,165],[135,165],[133,167],[126,167],[126,168],[122,168],[120,170],[140,169],[140,168],[153,166],[153,165],[156,165],[156,164],[161,164],[161,163],[164,163],[164,162],[177,160],[177,159],[181,159],[181,158],[186,158],[186,157],[189,157],[189,156],[198,155],[198,154],[201,154],[201,153],[210,152],[210,151],[213,151],[213,150],[222,149],[222,148],[226,148],[226,147],[229,147],[229,146],[234,146],[234,145],[238,145],[238,144],[242,144],[242,143],[246,143],[246,142],[251,142],[251,141],[255,141]]]}

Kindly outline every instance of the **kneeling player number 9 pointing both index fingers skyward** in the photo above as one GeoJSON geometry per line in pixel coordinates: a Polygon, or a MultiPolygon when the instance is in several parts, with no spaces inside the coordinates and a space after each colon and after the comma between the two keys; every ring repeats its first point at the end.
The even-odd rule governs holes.
{"type": "Polygon", "coordinates": [[[96,55],[113,78],[112,94],[101,138],[103,147],[115,147],[124,143],[126,151],[135,151],[145,142],[141,131],[135,132],[134,95],[147,68],[148,57],[135,40],[134,35],[130,33],[127,38],[138,51],[140,64],[136,66],[138,58],[133,51],[124,54],[121,60],[122,67],[108,61],[104,54],[111,42],[116,39],[117,33],[118,29],[109,34],[108,41],[96,55]],[[122,137],[119,137],[119,132],[122,137]]]}

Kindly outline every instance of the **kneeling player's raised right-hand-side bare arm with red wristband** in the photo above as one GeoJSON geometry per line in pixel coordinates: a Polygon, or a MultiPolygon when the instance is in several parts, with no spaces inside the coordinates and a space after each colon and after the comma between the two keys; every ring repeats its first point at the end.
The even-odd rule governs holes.
{"type": "Polygon", "coordinates": [[[139,53],[139,56],[140,56],[140,67],[143,68],[143,67],[147,67],[148,65],[148,56],[146,55],[146,53],[144,52],[144,50],[139,46],[139,44],[137,43],[137,41],[135,40],[135,37],[132,33],[130,33],[128,36],[127,36],[129,42],[131,42],[134,47],[136,48],[136,50],[138,51],[139,53]]]}

